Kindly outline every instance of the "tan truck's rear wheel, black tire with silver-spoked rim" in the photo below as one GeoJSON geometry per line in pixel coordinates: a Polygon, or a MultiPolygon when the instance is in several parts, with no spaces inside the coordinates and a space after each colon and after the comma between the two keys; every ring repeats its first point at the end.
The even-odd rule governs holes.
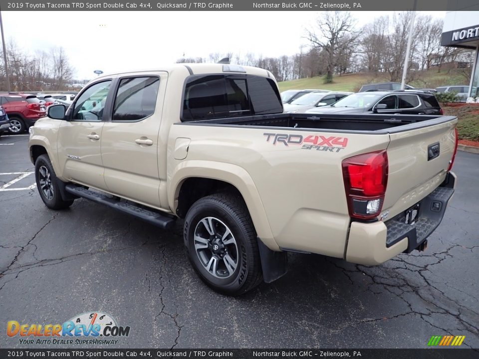
{"type": "Polygon", "coordinates": [[[186,215],[184,237],[193,268],[215,291],[235,296],[261,283],[256,232],[239,195],[196,201],[186,215]]]}

